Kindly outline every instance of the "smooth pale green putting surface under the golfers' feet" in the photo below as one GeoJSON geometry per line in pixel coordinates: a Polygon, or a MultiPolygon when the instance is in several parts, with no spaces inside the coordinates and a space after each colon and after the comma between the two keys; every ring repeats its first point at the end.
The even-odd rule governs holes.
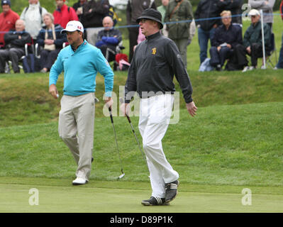
{"type": "Polygon", "coordinates": [[[243,194],[241,194],[243,187],[223,186],[221,190],[226,192],[216,192],[216,187],[213,186],[206,186],[204,190],[201,186],[180,184],[179,194],[170,206],[148,207],[140,204],[141,200],[147,199],[150,195],[150,189],[146,189],[149,183],[146,182],[135,183],[135,188],[140,187],[140,189],[129,189],[131,185],[128,185],[128,182],[91,181],[87,185],[75,187],[71,185],[70,180],[66,179],[13,179],[13,177],[0,179],[1,182],[5,182],[0,184],[0,212],[245,213],[283,211],[283,197],[277,188],[255,187],[255,193],[253,193],[254,189],[250,187],[252,204],[244,206],[243,194]],[[9,181],[13,184],[9,184],[9,181]],[[54,186],[55,184],[57,186],[54,186]],[[38,205],[29,204],[32,194],[28,192],[32,188],[38,189],[38,205]]]}

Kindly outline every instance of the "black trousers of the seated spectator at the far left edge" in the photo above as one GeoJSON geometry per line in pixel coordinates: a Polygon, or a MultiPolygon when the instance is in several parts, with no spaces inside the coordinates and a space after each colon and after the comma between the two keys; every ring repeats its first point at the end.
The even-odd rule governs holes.
{"type": "Polygon", "coordinates": [[[20,72],[18,67],[18,60],[25,55],[25,51],[22,48],[11,48],[0,51],[0,72],[4,73],[7,60],[11,60],[13,72],[20,72]]]}

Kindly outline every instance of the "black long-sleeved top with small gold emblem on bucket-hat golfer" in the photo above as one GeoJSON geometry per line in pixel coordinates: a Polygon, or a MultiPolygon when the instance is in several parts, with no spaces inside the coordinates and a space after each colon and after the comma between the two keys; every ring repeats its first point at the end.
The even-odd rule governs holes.
{"type": "Polygon", "coordinates": [[[148,36],[135,49],[125,86],[126,103],[133,98],[133,92],[138,92],[140,98],[157,92],[174,94],[174,75],[184,100],[192,102],[192,84],[177,46],[159,32],[148,36]]]}

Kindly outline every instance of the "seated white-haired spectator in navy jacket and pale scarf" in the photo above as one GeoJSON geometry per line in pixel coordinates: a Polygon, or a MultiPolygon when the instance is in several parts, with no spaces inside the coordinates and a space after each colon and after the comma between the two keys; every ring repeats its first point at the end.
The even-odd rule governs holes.
{"type": "Polygon", "coordinates": [[[40,72],[48,72],[55,62],[63,43],[67,42],[65,34],[61,34],[60,24],[54,24],[54,17],[51,13],[43,16],[45,26],[38,34],[37,43],[43,50],[40,52],[40,72]]]}

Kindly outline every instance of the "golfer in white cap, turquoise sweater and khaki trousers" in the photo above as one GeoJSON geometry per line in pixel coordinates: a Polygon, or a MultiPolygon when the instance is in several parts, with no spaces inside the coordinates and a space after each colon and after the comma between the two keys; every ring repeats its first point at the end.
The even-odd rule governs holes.
{"type": "Polygon", "coordinates": [[[69,21],[62,33],[70,43],[63,48],[52,65],[49,92],[57,99],[57,79],[64,72],[64,95],[59,114],[59,135],[77,163],[77,178],[72,184],[86,184],[91,172],[94,145],[94,92],[96,74],[104,76],[105,101],[111,107],[113,72],[101,50],[84,40],[84,27],[79,21],[69,21]]]}

